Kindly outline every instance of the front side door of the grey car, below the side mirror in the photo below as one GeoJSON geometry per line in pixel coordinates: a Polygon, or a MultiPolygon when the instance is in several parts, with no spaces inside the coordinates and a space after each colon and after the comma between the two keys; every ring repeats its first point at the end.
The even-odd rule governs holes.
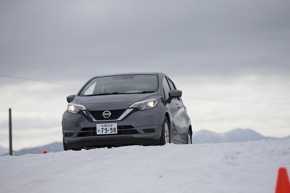
{"type": "MultiPolygon", "coordinates": [[[[171,90],[167,77],[163,77],[163,93],[164,93],[164,100],[168,99],[168,93],[171,90]]],[[[172,100],[171,103],[167,103],[168,109],[170,110],[170,118],[171,118],[171,128],[170,128],[170,135],[171,135],[171,142],[174,143],[175,141],[182,141],[182,137],[178,131],[182,130],[182,118],[181,118],[181,106],[177,100],[172,100]]]]}

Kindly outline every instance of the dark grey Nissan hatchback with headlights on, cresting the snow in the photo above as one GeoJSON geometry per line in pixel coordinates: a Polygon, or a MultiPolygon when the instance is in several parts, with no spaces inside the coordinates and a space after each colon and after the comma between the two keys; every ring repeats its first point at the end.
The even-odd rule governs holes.
{"type": "Polygon", "coordinates": [[[93,77],[67,97],[64,150],[191,144],[191,121],[181,96],[164,73],[93,77]]]}

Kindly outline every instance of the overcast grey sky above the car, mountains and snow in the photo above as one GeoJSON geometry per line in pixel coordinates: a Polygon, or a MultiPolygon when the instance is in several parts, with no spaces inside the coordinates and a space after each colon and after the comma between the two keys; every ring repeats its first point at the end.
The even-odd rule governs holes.
{"type": "MultiPolygon", "coordinates": [[[[290,1],[0,1],[0,74],[83,85],[102,74],[162,71],[195,131],[290,135],[290,1]]],[[[78,87],[0,77],[0,146],[61,141],[78,87]]]]}

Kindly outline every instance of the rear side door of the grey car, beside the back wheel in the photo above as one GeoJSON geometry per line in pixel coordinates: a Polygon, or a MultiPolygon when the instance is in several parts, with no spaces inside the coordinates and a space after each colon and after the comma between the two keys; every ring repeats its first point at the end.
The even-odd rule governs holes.
{"type": "MultiPolygon", "coordinates": [[[[175,84],[173,83],[173,81],[168,78],[168,83],[170,86],[170,89],[177,89],[175,84]]],[[[185,143],[187,140],[187,132],[188,132],[188,128],[187,128],[187,124],[188,124],[188,115],[187,112],[185,110],[185,106],[182,102],[181,98],[175,98],[172,100],[173,105],[176,104],[177,108],[178,108],[178,112],[177,112],[177,117],[181,120],[181,126],[177,128],[176,133],[173,133],[173,135],[177,136],[175,140],[180,141],[182,143],[185,143]]]]}

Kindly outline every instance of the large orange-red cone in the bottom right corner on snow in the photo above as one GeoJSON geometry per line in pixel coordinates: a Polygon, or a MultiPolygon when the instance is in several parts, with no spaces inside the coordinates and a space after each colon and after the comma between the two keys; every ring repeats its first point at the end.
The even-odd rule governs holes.
{"type": "Polygon", "coordinates": [[[290,193],[290,183],[286,168],[279,168],[276,193],[290,193]]]}

